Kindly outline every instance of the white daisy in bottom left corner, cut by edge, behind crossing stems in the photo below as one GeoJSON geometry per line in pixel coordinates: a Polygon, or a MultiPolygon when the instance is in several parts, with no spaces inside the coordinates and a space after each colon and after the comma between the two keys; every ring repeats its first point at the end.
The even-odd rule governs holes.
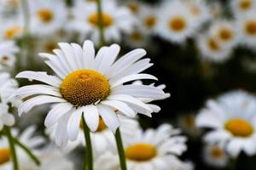
{"type": "MultiPolygon", "coordinates": [[[[37,147],[41,144],[44,144],[45,140],[43,137],[34,136],[36,127],[27,127],[20,135],[18,134],[17,129],[12,129],[12,133],[15,138],[19,139],[22,144],[26,144],[26,147],[32,152],[37,151],[37,147]]],[[[22,150],[19,146],[16,147],[16,154],[19,158],[20,169],[26,170],[23,166],[26,167],[28,161],[32,161],[26,152],[22,150]]],[[[6,137],[0,139],[0,169],[1,170],[10,170],[12,169],[13,162],[11,160],[11,152],[9,149],[9,142],[6,137]]]]}

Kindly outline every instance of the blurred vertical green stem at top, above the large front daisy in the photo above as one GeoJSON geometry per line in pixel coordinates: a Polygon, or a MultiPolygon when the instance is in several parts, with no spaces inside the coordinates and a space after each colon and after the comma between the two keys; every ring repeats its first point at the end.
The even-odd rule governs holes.
{"type": "Polygon", "coordinates": [[[104,26],[103,26],[103,17],[102,17],[102,0],[96,0],[97,3],[97,13],[99,20],[99,32],[100,32],[100,47],[105,45],[105,37],[104,37],[104,26]]]}

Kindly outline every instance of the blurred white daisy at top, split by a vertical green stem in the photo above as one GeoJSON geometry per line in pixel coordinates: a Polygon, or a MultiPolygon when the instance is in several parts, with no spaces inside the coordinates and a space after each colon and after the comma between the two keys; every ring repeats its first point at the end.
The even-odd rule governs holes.
{"type": "MultiPolygon", "coordinates": [[[[68,29],[78,31],[82,36],[90,37],[97,43],[100,34],[96,3],[79,1],[72,11],[73,20],[70,21],[68,29]]],[[[121,33],[130,33],[133,30],[135,19],[128,8],[117,6],[115,1],[103,2],[102,24],[107,42],[120,41],[121,33]]]]}

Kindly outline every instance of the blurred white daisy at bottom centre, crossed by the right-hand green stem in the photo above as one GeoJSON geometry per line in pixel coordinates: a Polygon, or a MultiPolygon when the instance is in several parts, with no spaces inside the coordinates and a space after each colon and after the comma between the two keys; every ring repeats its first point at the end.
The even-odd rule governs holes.
{"type": "MultiPolygon", "coordinates": [[[[172,166],[184,166],[182,161],[177,160],[177,156],[187,149],[186,138],[179,135],[178,129],[163,124],[155,130],[137,131],[139,133],[123,140],[128,170],[169,170],[172,166]]],[[[100,170],[102,164],[109,170],[119,170],[117,150],[113,149],[112,152],[97,157],[95,168],[100,170]]]]}

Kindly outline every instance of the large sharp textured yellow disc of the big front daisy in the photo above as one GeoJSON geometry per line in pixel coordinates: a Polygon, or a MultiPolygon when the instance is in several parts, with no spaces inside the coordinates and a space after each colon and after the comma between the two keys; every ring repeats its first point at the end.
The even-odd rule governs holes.
{"type": "Polygon", "coordinates": [[[106,77],[92,70],[73,71],[61,82],[61,95],[73,105],[90,105],[110,94],[106,77]]]}

